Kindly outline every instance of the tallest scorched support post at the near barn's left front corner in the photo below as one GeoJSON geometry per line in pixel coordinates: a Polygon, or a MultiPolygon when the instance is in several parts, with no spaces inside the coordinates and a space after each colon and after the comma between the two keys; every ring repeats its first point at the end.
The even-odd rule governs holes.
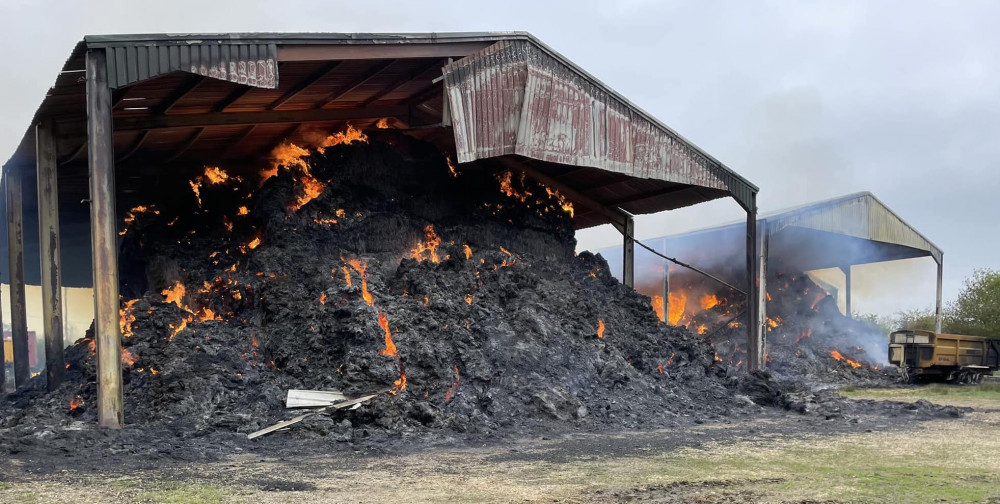
{"type": "Polygon", "coordinates": [[[94,329],[97,339],[97,422],[120,429],[121,329],[118,325],[118,244],[115,219],[111,89],[103,49],[87,51],[87,155],[90,165],[90,239],[94,266],[94,329]]]}

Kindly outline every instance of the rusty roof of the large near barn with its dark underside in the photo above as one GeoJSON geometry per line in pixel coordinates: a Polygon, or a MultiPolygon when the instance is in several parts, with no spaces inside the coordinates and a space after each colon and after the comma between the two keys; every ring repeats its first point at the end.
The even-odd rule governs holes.
{"type": "MultiPolygon", "coordinates": [[[[276,145],[351,124],[437,145],[460,169],[507,157],[589,200],[644,214],[757,188],[523,32],[89,36],[5,164],[23,169],[27,281],[37,284],[35,133],[57,136],[63,283],[91,284],[84,57],[106,51],[119,220],[205,165],[254,171],[276,145]]],[[[5,179],[6,180],[6,179],[5,179]]],[[[6,207],[0,191],[0,210],[6,207]]],[[[572,198],[571,198],[572,199],[572,198]]],[[[609,222],[575,202],[575,226],[609,222]]],[[[6,236],[6,219],[0,220],[6,236]]],[[[2,243],[6,264],[7,243],[2,243]]],[[[3,268],[3,281],[8,272],[3,268]]]]}

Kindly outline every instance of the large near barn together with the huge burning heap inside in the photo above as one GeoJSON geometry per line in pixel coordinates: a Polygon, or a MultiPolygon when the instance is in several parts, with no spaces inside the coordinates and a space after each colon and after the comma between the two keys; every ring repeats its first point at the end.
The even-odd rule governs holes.
{"type": "Polygon", "coordinates": [[[8,404],[35,408],[6,427],[248,432],[288,389],[385,391],[352,421],[456,430],[740,407],[629,288],[632,215],[733,197],[752,244],[757,188],[525,33],[86,37],[3,177],[8,404]],[[624,286],[574,252],[603,223],[624,286]],[[65,354],[61,286],[95,304],[65,354]]]}

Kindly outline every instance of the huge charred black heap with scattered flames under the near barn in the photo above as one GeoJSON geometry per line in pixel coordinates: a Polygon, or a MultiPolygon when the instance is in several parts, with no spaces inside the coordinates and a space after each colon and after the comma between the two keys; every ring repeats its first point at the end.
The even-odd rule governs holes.
{"type": "MultiPolygon", "coordinates": [[[[125,217],[135,446],[123,450],[157,431],[245,440],[290,416],[289,389],[389,391],[289,433],[341,442],[651,428],[756,409],[736,399],[708,341],[659,323],[602,258],[574,253],[572,206],[554,190],[456,169],[389,130],[272,156],[259,174],[199,168],[125,217]]],[[[39,377],[9,395],[4,437],[93,430],[94,350],[92,334],[67,350],[58,390],[39,377]]]]}

